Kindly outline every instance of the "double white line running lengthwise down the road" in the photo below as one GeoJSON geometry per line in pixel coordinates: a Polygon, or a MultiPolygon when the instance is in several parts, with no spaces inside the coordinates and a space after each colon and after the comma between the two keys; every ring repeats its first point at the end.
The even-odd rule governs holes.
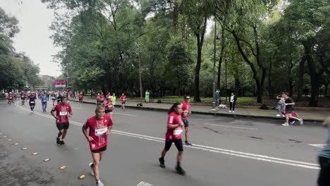
{"type": "MultiPolygon", "coordinates": [[[[19,106],[19,105],[17,105],[19,106]]],[[[29,111],[29,109],[25,109],[22,106],[20,106],[20,108],[24,109],[25,111],[29,111]]],[[[51,116],[48,116],[44,113],[38,113],[35,112],[35,114],[39,115],[39,116],[44,116],[46,118],[50,118],[50,119],[54,119],[51,116]]],[[[78,123],[75,121],[70,121],[70,123],[72,123],[73,125],[78,125],[78,126],[82,126],[82,123],[78,123]]],[[[130,133],[130,132],[123,132],[120,130],[112,130],[111,131],[114,134],[117,135],[126,135],[129,137],[135,137],[135,138],[139,138],[139,139],[143,139],[143,140],[150,140],[150,141],[154,141],[154,142],[162,142],[164,143],[164,139],[163,138],[159,138],[159,137],[152,137],[152,136],[147,136],[147,135],[138,135],[135,133],[130,133]]],[[[259,155],[259,154],[250,154],[250,153],[246,153],[246,152],[242,152],[242,151],[233,151],[233,150],[228,150],[228,149],[220,149],[220,148],[216,148],[216,147],[208,147],[208,146],[204,146],[204,145],[200,145],[200,144],[193,144],[193,146],[186,146],[188,148],[191,149],[200,149],[203,151],[210,151],[210,152],[216,152],[219,154],[227,154],[227,155],[231,155],[231,156],[238,156],[238,157],[243,157],[243,158],[247,158],[247,159],[255,159],[255,160],[260,160],[260,161],[267,161],[267,162],[271,162],[271,163],[279,163],[279,164],[283,164],[283,165],[287,165],[287,166],[296,166],[296,167],[301,167],[301,168],[310,168],[310,169],[319,169],[319,165],[316,163],[307,163],[307,162],[303,162],[303,161],[293,161],[290,159],[279,159],[276,157],[271,157],[271,156],[264,156],[264,155],[259,155]]]]}

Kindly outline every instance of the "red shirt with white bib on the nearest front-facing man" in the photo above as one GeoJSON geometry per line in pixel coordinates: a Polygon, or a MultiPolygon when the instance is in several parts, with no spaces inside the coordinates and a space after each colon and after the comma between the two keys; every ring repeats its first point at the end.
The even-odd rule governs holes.
{"type": "Polygon", "coordinates": [[[87,119],[83,128],[85,130],[90,128],[89,136],[93,138],[92,142],[90,142],[90,150],[101,149],[108,144],[106,131],[112,125],[112,120],[108,115],[104,115],[102,119],[98,119],[96,116],[87,119]]]}

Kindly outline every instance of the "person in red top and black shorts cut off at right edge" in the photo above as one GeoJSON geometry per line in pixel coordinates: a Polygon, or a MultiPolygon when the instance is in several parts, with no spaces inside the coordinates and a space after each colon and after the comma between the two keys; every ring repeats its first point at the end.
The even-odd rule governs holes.
{"type": "Polygon", "coordinates": [[[319,178],[317,179],[318,186],[330,185],[330,117],[326,118],[322,123],[324,128],[328,129],[328,139],[326,140],[326,146],[319,153],[319,178]]]}

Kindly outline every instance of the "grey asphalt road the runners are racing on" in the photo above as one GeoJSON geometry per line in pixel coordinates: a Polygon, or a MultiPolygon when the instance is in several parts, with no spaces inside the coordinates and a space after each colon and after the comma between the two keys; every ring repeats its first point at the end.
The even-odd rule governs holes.
{"type": "MultiPolygon", "coordinates": [[[[66,146],[56,145],[57,128],[47,108],[37,100],[35,113],[20,101],[0,101],[0,185],[95,185],[92,161],[81,125],[93,116],[94,105],[71,102],[73,117],[66,146]],[[8,141],[11,140],[11,141],[8,141]],[[18,143],[18,144],[16,144],[18,143]],[[16,144],[16,145],[15,145],[16,144]],[[27,149],[23,150],[23,147],[27,149]],[[38,154],[32,156],[32,153],[38,154]],[[44,162],[44,159],[51,159],[44,162]],[[66,166],[59,170],[59,166],[66,166]],[[85,174],[86,178],[78,180],[85,174]]],[[[50,102],[49,102],[50,104],[50,102]]],[[[317,123],[283,127],[279,121],[190,116],[193,147],[184,147],[182,167],[174,170],[176,148],[158,158],[164,148],[165,112],[114,111],[114,128],[101,163],[106,185],[315,185],[326,130],[317,123]]]]}

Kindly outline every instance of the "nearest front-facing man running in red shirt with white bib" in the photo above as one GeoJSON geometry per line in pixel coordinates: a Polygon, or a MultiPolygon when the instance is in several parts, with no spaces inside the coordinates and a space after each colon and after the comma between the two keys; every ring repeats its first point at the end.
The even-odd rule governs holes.
{"type": "Polygon", "coordinates": [[[104,107],[98,105],[95,109],[95,116],[88,118],[85,125],[82,126],[82,133],[89,142],[90,151],[92,151],[93,162],[89,166],[92,169],[92,175],[95,177],[97,186],[104,186],[99,179],[99,163],[104,156],[104,151],[106,151],[112,125],[111,118],[104,115],[104,107]],[[88,128],[89,132],[87,132],[88,128]]]}

